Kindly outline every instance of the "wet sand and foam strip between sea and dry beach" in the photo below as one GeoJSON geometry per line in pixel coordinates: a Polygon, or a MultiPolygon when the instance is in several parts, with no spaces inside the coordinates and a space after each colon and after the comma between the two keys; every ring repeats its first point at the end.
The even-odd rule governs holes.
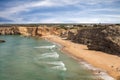
{"type": "Polygon", "coordinates": [[[100,68],[96,68],[93,65],[89,64],[82,58],[75,57],[71,55],[69,52],[61,50],[62,52],[66,53],[68,56],[71,56],[73,59],[77,60],[85,69],[88,69],[94,75],[95,80],[115,80],[112,76],[110,76],[105,70],[100,68]]]}

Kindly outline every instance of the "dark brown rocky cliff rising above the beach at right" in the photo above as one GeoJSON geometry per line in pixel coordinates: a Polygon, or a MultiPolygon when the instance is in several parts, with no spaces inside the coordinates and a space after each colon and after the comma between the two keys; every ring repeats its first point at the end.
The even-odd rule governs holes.
{"type": "Polygon", "coordinates": [[[86,44],[91,50],[120,54],[120,26],[79,30],[72,41],[86,44]]]}

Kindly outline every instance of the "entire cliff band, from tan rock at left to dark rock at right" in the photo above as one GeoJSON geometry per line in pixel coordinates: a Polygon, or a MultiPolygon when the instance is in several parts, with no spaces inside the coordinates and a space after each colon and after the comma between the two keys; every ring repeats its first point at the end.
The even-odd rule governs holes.
{"type": "Polygon", "coordinates": [[[46,36],[58,35],[81,44],[88,49],[120,54],[120,26],[105,26],[93,29],[63,30],[57,27],[0,27],[0,35],[46,36]]]}

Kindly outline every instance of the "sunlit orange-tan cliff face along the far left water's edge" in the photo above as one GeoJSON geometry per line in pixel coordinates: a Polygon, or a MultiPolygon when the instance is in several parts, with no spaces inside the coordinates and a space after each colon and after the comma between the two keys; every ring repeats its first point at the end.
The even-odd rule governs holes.
{"type": "Polygon", "coordinates": [[[24,36],[60,35],[56,27],[0,27],[0,35],[21,34],[24,36]]]}

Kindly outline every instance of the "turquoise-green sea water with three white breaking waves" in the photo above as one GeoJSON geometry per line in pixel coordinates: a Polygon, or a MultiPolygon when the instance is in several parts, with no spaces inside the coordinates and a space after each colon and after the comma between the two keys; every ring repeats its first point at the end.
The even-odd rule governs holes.
{"type": "Polygon", "coordinates": [[[0,80],[93,80],[59,46],[43,39],[0,36],[0,80]]]}

